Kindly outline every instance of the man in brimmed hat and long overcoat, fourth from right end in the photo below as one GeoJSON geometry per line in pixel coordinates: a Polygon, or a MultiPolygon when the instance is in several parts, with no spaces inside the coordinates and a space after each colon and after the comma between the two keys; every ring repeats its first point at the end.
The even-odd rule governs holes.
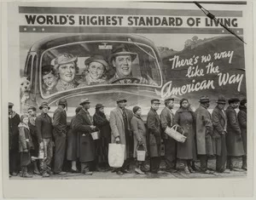
{"type": "Polygon", "coordinates": [[[212,146],[212,119],[207,110],[210,106],[210,100],[207,96],[201,96],[200,106],[195,110],[196,117],[196,146],[197,154],[200,158],[202,173],[210,174],[207,168],[208,157],[213,156],[212,146]]]}

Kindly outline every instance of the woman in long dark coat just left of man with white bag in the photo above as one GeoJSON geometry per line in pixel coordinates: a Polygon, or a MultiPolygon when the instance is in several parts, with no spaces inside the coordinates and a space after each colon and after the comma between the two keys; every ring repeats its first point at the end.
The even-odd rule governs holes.
{"type": "Polygon", "coordinates": [[[97,167],[108,169],[108,144],[111,141],[111,129],[104,113],[104,106],[96,104],[95,109],[93,123],[101,134],[101,138],[96,140],[96,164],[98,164],[97,167]]]}

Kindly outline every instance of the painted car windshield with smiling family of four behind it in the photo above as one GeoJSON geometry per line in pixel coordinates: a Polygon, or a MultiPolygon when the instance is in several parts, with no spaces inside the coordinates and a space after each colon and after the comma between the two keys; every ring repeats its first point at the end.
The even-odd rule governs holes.
{"type": "Polygon", "coordinates": [[[161,85],[154,49],[131,41],[68,43],[46,50],[40,75],[43,96],[111,84],[161,85]]]}

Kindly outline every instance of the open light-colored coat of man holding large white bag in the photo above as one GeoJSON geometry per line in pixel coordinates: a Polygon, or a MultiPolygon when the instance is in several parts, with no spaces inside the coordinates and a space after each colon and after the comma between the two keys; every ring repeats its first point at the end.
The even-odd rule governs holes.
{"type": "MultiPolygon", "coordinates": [[[[131,110],[125,109],[128,119],[128,129],[131,131],[131,117],[133,116],[133,113],[131,110]]],[[[122,110],[118,107],[113,109],[113,111],[110,112],[109,117],[109,123],[111,128],[111,142],[115,143],[115,138],[119,136],[120,138],[120,144],[123,144],[126,146],[126,140],[125,140],[125,123],[123,119],[122,110]]],[[[125,159],[129,157],[129,152],[127,152],[127,146],[125,148],[125,159]]]]}

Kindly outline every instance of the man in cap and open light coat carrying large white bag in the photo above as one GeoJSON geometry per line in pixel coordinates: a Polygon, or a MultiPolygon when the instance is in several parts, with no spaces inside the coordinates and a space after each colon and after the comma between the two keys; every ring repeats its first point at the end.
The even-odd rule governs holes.
{"type": "Polygon", "coordinates": [[[109,123],[112,130],[112,143],[125,145],[125,163],[121,169],[116,169],[116,173],[123,175],[129,173],[130,161],[133,155],[133,136],[131,132],[132,111],[125,109],[124,97],[119,96],[117,107],[110,112],[109,123]]]}

